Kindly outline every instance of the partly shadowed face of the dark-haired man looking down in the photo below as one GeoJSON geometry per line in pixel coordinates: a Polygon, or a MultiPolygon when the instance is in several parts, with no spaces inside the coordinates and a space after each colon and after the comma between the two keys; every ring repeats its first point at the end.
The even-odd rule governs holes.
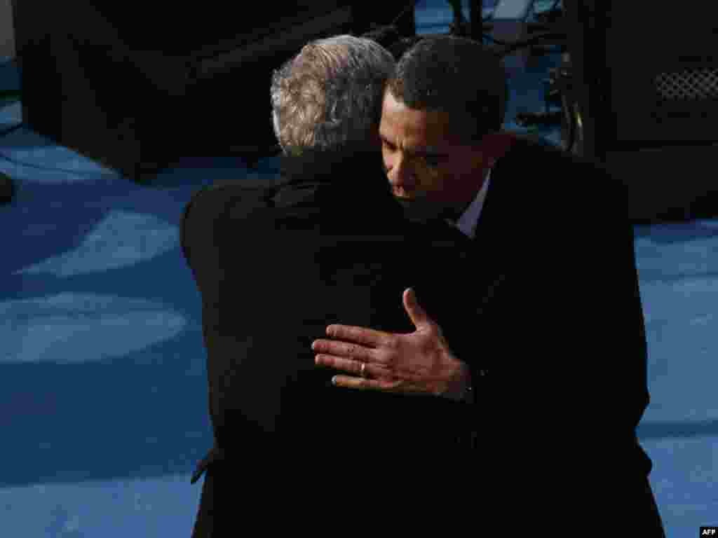
{"type": "Polygon", "coordinates": [[[392,192],[417,216],[461,211],[482,186],[488,158],[452,136],[447,113],[408,108],[387,90],[379,136],[392,192]]]}

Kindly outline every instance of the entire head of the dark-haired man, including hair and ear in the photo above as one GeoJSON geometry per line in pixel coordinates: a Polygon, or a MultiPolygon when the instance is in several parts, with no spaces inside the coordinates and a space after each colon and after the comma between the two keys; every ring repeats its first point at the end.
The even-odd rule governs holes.
{"type": "Polygon", "coordinates": [[[401,58],[387,86],[380,136],[394,194],[411,212],[457,220],[512,141],[498,133],[508,100],[503,67],[470,39],[426,39],[401,58]],[[419,152],[396,151],[412,137],[419,152]]]}

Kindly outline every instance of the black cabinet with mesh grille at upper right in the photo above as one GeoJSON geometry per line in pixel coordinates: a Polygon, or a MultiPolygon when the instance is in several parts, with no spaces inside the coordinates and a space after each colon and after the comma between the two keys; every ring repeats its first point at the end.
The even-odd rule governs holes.
{"type": "Polygon", "coordinates": [[[623,182],[635,222],[718,215],[712,5],[564,0],[581,154],[623,182]]]}

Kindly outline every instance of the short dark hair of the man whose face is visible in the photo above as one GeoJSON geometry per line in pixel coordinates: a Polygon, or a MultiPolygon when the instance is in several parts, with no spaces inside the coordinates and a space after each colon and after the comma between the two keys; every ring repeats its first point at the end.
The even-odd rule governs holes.
{"type": "Polygon", "coordinates": [[[472,39],[421,39],[398,60],[387,88],[409,108],[449,114],[452,131],[467,143],[503,125],[508,101],[503,63],[472,39]]]}

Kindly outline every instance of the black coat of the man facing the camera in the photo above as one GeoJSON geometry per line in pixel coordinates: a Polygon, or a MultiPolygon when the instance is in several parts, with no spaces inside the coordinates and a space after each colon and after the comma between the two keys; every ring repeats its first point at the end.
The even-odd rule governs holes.
{"type": "Polygon", "coordinates": [[[500,410],[484,418],[497,442],[483,457],[505,463],[497,506],[509,519],[528,499],[526,520],[553,536],[573,536],[572,523],[617,535],[631,521],[659,536],[642,527],[655,523],[651,460],[635,437],[649,402],[647,354],[622,187],[599,166],[521,138],[490,181],[474,241],[491,288],[475,354],[488,369],[478,390],[500,410]]]}

